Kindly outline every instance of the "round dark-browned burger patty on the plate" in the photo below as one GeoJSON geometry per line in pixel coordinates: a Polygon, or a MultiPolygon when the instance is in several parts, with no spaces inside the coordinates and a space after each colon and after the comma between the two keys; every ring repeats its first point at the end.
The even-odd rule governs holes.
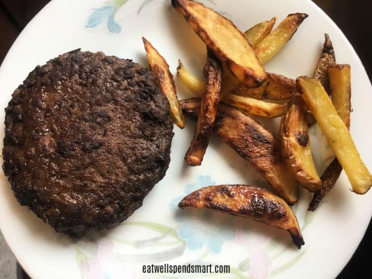
{"type": "Polygon", "coordinates": [[[37,66],[14,91],[3,169],[21,205],[81,237],[142,205],[168,168],[172,130],[149,70],[75,50],[37,66]]]}

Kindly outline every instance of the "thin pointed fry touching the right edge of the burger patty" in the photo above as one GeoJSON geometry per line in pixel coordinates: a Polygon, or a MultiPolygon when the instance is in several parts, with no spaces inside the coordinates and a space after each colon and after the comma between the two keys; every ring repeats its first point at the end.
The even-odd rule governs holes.
{"type": "Polygon", "coordinates": [[[159,83],[161,91],[168,98],[173,120],[177,126],[183,129],[185,127],[185,118],[177,98],[176,85],[173,80],[173,75],[169,71],[169,65],[149,41],[144,37],[142,37],[142,40],[152,72],[159,83]]]}

